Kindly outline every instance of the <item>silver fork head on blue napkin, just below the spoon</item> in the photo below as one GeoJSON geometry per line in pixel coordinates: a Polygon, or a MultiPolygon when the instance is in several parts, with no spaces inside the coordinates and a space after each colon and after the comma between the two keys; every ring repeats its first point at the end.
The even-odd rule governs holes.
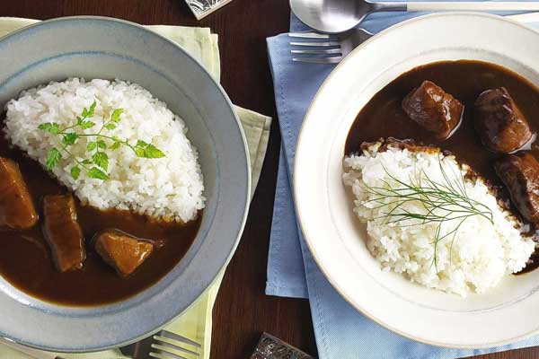
{"type": "Polygon", "coordinates": [[[337,35],[319,32],[290,32],[288,36],[295,39],[306,39],[290,42],[293,47],[290,50],[292,61],[310,64],[337,64],[373,34],[364,29],[353,29],[337,35]],[[305,56],[297,57],[297,55],[305,56]]]}

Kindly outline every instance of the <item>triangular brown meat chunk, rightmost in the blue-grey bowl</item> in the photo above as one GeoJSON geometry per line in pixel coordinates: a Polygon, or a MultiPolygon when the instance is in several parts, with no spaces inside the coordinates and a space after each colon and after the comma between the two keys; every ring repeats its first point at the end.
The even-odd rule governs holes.
{"type": "Polygon", "coordinates": [[[105,230],[96,236],[95,250],[119,276],[129,276],[152,254],[154,245],[125,232],[105,230]]]}

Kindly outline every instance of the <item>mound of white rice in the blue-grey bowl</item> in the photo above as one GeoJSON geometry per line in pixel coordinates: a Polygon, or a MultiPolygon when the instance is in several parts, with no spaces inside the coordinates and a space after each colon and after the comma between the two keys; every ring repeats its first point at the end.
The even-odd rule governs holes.
{"type": "MultiPolygon", "coordinates": [[[[204,184],[197,150],[186,136],[187,127],[163,102],[135,83],[72,78],[24,91],[18,100],[5,106],[5,136],[45,165],[49,148],[61,148],[61,138],[38,129],[40,124],[74,125],[76,117],[93,101],[97,101],[93,121],[98,125],[113,109],[124,109],[118,127],[106,130],[106,135],[130,144],[137,140],[155,144],[165,157],[139,158],[127,146],[121,146],[107,151],[110,180],[91,179],[85,171],[74,180],[70,175],[73,159],[61,160],[53,169],[57,179],[83,203],[97,208],[131,209],[168,221],[196,218],[204,208],[204,184]]],[[[94,133],[96,127],[77,128],[77,132],[94,133]]],[[[69,147],[79,160],[88,158],[86,138],[69,147]]]]}

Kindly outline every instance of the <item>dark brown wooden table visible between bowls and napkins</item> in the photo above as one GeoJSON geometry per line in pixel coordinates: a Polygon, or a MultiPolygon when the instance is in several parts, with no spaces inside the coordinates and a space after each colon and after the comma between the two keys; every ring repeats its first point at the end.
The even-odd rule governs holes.
{"type": "MultiPolygon", "coordinates": [[[[222,83],[232,101],[273,118],[276,111],[265,39],[287,31],[289,13],[287,0],[234,0],[201,22],[194,19],[183,0],[0,1],[0,16],[44,20],[85,14],[143,24],[210,27],[219,34],[222,83]]],[[[316,354],[308,302],[264,294],[279,142],[278,123],[274,121],[249,221],[217,297],[212,358],[248,358],[263,331],[316,354]]],[[[539,347],[481,358],[539,358],[539,347]]]]}

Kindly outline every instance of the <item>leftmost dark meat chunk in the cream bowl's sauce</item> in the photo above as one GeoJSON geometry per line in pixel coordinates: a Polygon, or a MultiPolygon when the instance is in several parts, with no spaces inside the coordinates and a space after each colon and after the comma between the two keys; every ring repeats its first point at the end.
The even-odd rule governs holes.
{"type": "Polygon", "coordinates": [[[460,124],[464,105],[436,83],[424,81],[402,100],[402,109],[438,139],[446,139],[460,124]]]}

